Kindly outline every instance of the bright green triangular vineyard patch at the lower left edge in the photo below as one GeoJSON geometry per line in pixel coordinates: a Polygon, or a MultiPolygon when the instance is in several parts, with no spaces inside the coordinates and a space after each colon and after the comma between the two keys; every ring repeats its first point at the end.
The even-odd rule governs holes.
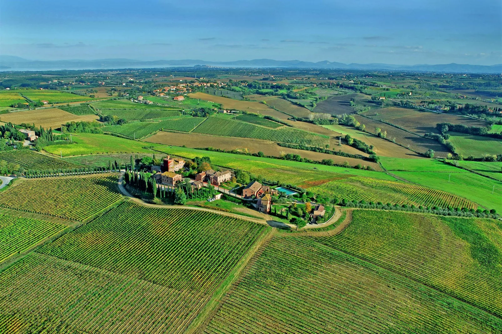
{"type": "Polygon", "coordinates": [[[62,224],[0,214],[0,261],[65,228],[62,224]]]}

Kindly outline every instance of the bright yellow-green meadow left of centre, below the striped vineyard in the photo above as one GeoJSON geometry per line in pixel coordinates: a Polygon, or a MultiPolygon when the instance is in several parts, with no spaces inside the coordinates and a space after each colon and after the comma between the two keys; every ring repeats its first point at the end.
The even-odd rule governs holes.
{"type": "Polygon", "coordinates": [[[44,150],[55,155],[70,156],[98,153],[151,153],[150,147],[164,146],[94,133],[78,133],[72,136],[72,140],[73,144],[45,146],[44,150]]]}

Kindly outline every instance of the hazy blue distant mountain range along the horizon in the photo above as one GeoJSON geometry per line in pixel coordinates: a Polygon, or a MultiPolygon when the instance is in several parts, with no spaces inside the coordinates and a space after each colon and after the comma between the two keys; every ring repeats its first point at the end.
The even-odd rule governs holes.
{"type": "Polygon", "coordinates": [[[502,73],[502,64],[496,65],[469,65],[469,64],[418,64],[418,65],[395,65],[395,64],[343,64],[327,60],[304,62],[300,60],[273,60],[253,59],[237,60],[232,62],[209,62],[197,59],[184,60],[155,60],[140,61],[133,59],[96,59],[96,60],[27,60],[16,56],[0,55],[0,69],[10,70],[83,70],[83,69],[112,69],[112,68],[162,68],[171,66],[192,67],[197,65],[215,67],[288,67],[288,68],[322,68],[322,69],[359,69],[359,70],[398,70],[398,71],[424,71],[424,72],[448,72],[448,73],[502,73]]]}

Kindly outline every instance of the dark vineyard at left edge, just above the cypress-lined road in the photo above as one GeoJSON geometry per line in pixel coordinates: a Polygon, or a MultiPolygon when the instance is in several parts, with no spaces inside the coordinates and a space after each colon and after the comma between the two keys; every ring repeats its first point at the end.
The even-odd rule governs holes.
{"type": "Polygon", "coordinates": [[[0,152],[0,160],[5,160],[8,163],[19,164],[25,170],[82,168],[82,165],[78,163],[36,153],[29,149],[16,149],[12,151],[0,152]]]}

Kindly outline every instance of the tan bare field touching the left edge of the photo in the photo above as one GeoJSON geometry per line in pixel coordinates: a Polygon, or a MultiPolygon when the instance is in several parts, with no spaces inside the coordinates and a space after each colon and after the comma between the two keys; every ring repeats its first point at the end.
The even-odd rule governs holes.
{"type": "Polygon", "coordinates": [[[44,128],[57,129],[61,124],[67,122],[91,121],[98,119],[97,115],[74,115],[69,112],[57,108],[44,108],[27,111],[17,111],[8,114],[0,115],[3,122],[11,122],[14,124],[35,123],[35,126],[44,128]]]}

